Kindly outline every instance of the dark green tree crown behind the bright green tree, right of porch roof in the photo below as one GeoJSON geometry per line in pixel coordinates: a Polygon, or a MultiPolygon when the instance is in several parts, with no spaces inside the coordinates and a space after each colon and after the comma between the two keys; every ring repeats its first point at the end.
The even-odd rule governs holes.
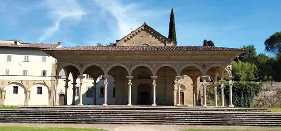
{"type": "Polygon", "coordinates": [[[256,61],[256,47],[254,45],[243,46],[242,49],[245,49],[245,52],[238,56],[238,59],[242,62],[254,63],[256,61]]]}

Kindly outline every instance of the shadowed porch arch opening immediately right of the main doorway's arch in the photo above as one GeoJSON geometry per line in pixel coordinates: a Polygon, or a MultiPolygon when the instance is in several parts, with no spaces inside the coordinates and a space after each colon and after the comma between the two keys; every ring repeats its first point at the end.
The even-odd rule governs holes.
{"type": "MultiPolygon", "coordinates": [[[[157,69],[157,68],[156,68],[157,69]]],[[[175,105],[174,81],[177,72],[170,66],[162,66],[156,71],[156,97],[158,105],[175,105]]]]}

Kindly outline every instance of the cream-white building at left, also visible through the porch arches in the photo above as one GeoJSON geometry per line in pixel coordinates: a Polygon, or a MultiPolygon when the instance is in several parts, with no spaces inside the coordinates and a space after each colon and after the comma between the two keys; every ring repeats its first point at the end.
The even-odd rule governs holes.
{"type": "MultiPolygon", "coordinates": [[[[18,40],[0,40],[0,105],[53,105],[56,74],[56,59],[47,55],[42,49],[60,48],[58,44],[43,43],[23,43],[18,40]]],[[[62,70],[63,72],[63,70],[62,70]]],[[[62,74],[63,75],[63,74],[62,74]]],[[[86,74],[85,74],[86,76],[86,74]]],[[[69,87],[73,87],[72,77],[70,77],[69,87]]],[[[87,89],[82,90],[83,104],[94,104],[93,79],[87,76],[84,84],[87,89]],[[89,91],[87,91],[89,90],[89,91]]],[[[78,78],[79,79],[79,78],[78,78]]],[[[65,79],[61,78],[57,85],[57,94],[64,101],[65,79]]],[[[111,79],[113,81],[113,78],[111,79]]],[[[113,93],[114,83],[108,86],[108,93],[113,93]]],[[[79,80],[76,80],[75,104],[79,102],[79,80]]],[[[97,80],[97,83],[103,83],[103,80],[97,80]]],[[[100,91],[103,84],[96,86],[96,104],[102,104],[103,98],[100,91]]],[[[67,104],[72,104],[72,88],[68,88],[67,104]]],[[[114,104],[114,96],[108,96],[109,104],[114,104]]],[[[65,104],[61,102],[61,104],[65,104]]]]}

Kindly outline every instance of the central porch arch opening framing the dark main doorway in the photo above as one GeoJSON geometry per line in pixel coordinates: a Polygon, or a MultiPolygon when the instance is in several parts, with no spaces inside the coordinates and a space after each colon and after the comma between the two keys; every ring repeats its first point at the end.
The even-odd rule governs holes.
{"type": "MultiPolygon", "coordinates": [[[[145,66],[138,66],[132,71],[132,105],[151,105],[152,104],[152,70],[145,66]],[[149,90],[150,89],[150,90],[149,90]]],[[[157,79],[156,79],[157,81],[157,79]]],[[[157,87],[156,87],[157,94],[157,87]]],[[[126,99],[128,101],[128,97],[126,99]]],[[[156,95],[157,103],[157,95],[156,95]]]]}

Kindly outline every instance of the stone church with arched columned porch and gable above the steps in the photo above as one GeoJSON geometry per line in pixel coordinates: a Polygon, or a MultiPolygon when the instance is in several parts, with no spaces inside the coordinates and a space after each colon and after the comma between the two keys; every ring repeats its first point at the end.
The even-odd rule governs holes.
{"type": "MultiPolygon", "coordinates": [[[[107,99],[112,94],[108,93],[107,88],[108,79],[112,77],[115,105],[203,107],[207,107],[206,88],[216,91],[217,83],[224,83],[225,80],[229,81],[230,87],[232,86],[231,61],[244,52],[238,48],[175,46],[172,40],[146,23],[116,40],[115,46],[77,46],[43,51],[57,59],[54,76],[56,85],[61,78],[59,72],[64,70],[66,94],[70,77],[73,81],[79,80],[79,92],[85,92],[87,87],[83,81],[86,74],[93,79],[93,94],[97,94],[96,81],[102,76],[103,105],[108,105],[107,99]],[[224,72],[229,77],[218,81],[218,75],[223,75],[224,72]],[[212,85],[206,82],[208,78],[212,79],[212,85]]],[[[221,88],[223,90],[224,86],[221,88]]],[[[229,92],[229,105],[216,106],[233,107],[231,88],[229,92]]],[[[55,105],[58,105],[58,94],[56,90],[55,105]]],[[[79,95],[78,105],[85,105],[82,96],[83,94],[79,95]]],[[[96,101],[95,96],[93,99],[96,101]]]]}

